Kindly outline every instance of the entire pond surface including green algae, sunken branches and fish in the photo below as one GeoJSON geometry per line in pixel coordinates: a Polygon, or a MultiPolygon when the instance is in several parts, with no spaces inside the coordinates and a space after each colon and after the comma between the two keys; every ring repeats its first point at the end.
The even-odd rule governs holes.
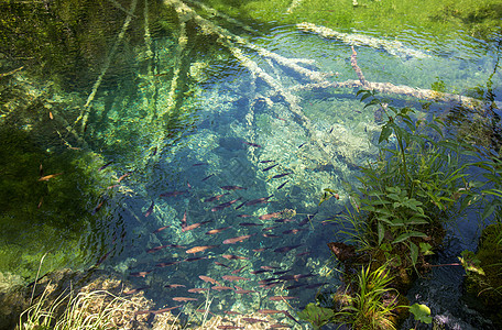
{"type": "MultiPolygon", "coordinates": [[[[96,6],[96,15],[78,8],[90,11],[77,15],[87,20],[79,23],[83,31],[72,25],[77,24],[70,21],[76,14],[68,8],[69,13],[64,6],[47,8],[54,20],[77,31],[72,32],[76,45],[87,47],[77,52],[85,64],[75,59],[57,72],[41,66],[57,63],[58,53],[45,54],[40,63],[26,59],[41,86],[47,84],[41,77],[59,78],[54,80],[59,88],[46,96],[57,106],[44,103],[44,121],[58,116],[72,128],[59,121],[37,132],[28,120],[15,123],[42,136],[34,139],[35,144],[53,160],[53,172],[45,174],[65,173],[44,185],[54,191],[68,170],[86,164],[80,184],[91,187],[78,190],[85,211],[72,213],[85,213],[86,230],[65,235],[62,228],[67,224],[56,223],[40,233],[52,239],[33,244],[36,228],[26,231],[30,224],[22,222],[11,229],[13,237],[4,239],[6,246],[31,242],[26,244],[35,250],[32,257],[19,246],[15,250],[29,264],[26,277],[34,276],[37,260],[48,251],[46,258],[58,261],[44,271],[97,263],[144,288],[159,308],[178,305],[173,297],[198,299],[185,306],[186,312],[199,308],[206,297],[187,290],[215,286],[203,275],[222,287],[203,292],[212,299],[212,312],[298,309],[319,289],[331,290],[337,284],[326,243],[340,238],[340,228],[327,220],[349,202],[347,187],[357,186],[358,166],[378,156],[381,120],[356,96],[351,46],[368,81],[474,98],[490,92],[494,101],[502,101],[501,35],[496,24],[487,23],[500,18],[489,16],[479,24],[462,21],[467,4],[439,10],[433,6],[438,1],[428,1],[424,4],[428,15],[421,12],[406,21],[402,18],[402,11],[411,14],[406,1],[403,8],[382,7],[389,1],[343,3],[340,12],[326,9],[316,14],[312,8],[335,8],[338,2],[332,7],[316,1],[119,2],[96,6]],[[134,15],[128,15],[129,10],[134,15]],[[454,13],[447,15],[448,10],[454,13]],[[100,11],[107,12],[109,25],[100,22],[92,30],[90,23],[101,20],[100,11]],[[393,29],[390,18],[400,18],[393,29]],[[107,26],[103,35],[97,33],[101,26],[107,26]],[[332,31],[338,32],[336,37],[332,31]],[[349,80],[352,85],[335,85],[349,80]],[[54,154],[77,165],[57,170],[54,154]],[[319,206],[325,188],[336,190],[340,199],[319,206]],[[62,256],[68,251],[78,255],[73,262],[62,256]],[[253,292],[238,294],[227,286],[253,292]],[[280,295],[295,298],[270,299],[280,295]]],[[[23,11],[12,14],[21,16],[23,11]]],[[[9,58],[2,58],[6,67],[9,58]]],[[[20,56],[15,61],[23,63],[20,56]]],[[[11,86],[21,86],[28,78],[10,79],[11,86]]],[[[385,96],[395,106],[416,109],[417,118],[446,113],[454,106],[410,95],[385,96]]],[[[12,112],[6,110],[2,118],[12,118],[12,112]]],[[[33,156],[31,162],[36,172],[42,161],[33,156]]],[[[45,202],[55,198],[54,193],[40,194],[51,196],[44,197],[45,202]]],[[[33,198],[36,217],[44,205],[33,198]]],[[[4,227],[6,219],[10,218],[2,218],[4,227]]],[[[477,223],[463,223],[451,232],[444,262],[455,261],[463,249],[476,249],[477,230],[477,223]]],[[[15,273],[19,267],[10,263],[0,271],[15,273]]],[[[415,298],[435,306],[433,315],[447,315],[450,324],[476,327],[469,323],[471,317],[460,319],[454,310],[458,306],[445,310],[440,302],[457,299],[461,274],[447,273],[434,280],[434,287],[458,285],[449,297],[417,288],[415,298]]],[[[427,280],[421,285],[433,286],[427,280]]]]}

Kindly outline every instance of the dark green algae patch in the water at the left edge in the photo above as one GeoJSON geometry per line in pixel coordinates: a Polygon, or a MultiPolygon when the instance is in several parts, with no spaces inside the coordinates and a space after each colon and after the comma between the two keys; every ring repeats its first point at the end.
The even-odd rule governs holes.
{"type": "Polygon", "coordinates": [[[0,127],[0,272],[33,278],[64,266],[84,264],[94,246],[81,241],[96,221],[90,210],[106,182],[96,175],[91,153],[51,152],[33,143],[32,134],[0,127]],[[58,174],[47,180],[41,177],[58,174]]]}

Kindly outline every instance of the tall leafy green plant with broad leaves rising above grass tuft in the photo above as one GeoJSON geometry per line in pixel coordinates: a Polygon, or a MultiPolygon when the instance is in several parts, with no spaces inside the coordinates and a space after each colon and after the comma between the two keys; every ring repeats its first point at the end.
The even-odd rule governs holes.
{"type": "Polygon", "coordinates": [[[373,91],[358,95],[361,101],[369,99],[364,108],[379,107],[386,120],[379,158],[361,166],[360,193],[351,191],[358,217],[352,212],[343,219],[352,219],[360,249],[397,260],[405,268],[415,266],[439,244],[443,224],[477,200],[471,188],[481,184],[467,174],[476,153],[447,139],[439,118],[415,120],[411,108],[389,106],[373,91]]]}

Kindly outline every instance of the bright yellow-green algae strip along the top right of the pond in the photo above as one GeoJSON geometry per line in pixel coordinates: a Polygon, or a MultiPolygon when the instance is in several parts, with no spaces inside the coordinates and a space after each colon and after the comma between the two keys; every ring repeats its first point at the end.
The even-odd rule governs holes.
{"type": "Polygon", "coordinates": [[[488,37],[500,31],[502,8],[496,0],[379,1],[379,0],[208,0],[211,7],[243,21],[296,24],[307,21],[330,29],[358,29],[392,35],[416,29],[438,37],[458,31],[488,37]],[[358,6],[353,3],[357,2],[358,6]]]}

